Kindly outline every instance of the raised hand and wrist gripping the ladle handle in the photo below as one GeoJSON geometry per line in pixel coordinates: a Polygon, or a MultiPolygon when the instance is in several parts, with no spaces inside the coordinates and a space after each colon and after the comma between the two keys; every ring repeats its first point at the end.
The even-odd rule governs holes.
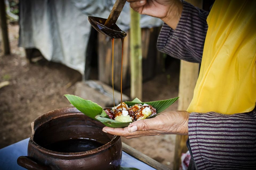
{"type": "Polygon", "coordinates": [[[134,11],[160,18],[173,29],[176,28],[183,9],[181,0],[127,0],[127,2],[130,2],[134,11]]]}

